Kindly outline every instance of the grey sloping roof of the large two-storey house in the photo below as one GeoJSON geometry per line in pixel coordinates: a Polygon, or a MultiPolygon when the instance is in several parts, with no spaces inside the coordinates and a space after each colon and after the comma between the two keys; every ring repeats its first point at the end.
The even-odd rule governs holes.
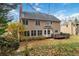
{"type": "Polygon", "coordinates": [[[38,12],[23,12],[22,18],[60,22],[60,20],[53,15],[48,15],[48,14],[45,14],[45,13],[38,13],[38,12]]]}

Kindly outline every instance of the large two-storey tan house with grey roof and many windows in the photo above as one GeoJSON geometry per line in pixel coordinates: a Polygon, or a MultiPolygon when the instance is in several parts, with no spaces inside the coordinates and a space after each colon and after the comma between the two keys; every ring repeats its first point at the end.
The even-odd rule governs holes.
{"type": "Polygon", "coordinates": [[[25,36],[51,37],[52,34],[60,33],[60,20],[52,15],[23,12],[21,22],[26,28],[25,36]]]}

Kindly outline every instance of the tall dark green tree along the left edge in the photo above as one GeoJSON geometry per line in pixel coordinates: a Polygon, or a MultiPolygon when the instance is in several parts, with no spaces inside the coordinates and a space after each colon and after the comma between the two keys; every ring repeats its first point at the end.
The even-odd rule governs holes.
{"type": "Polygon", "coordinates": [[[7,23],[10,21],[7,18],[8,12],[12,9],[15,9],[16,7],[17,4],[0,4],[0,35],[2,35],[5,32],[5,29],[7,28],[7,23]]]}

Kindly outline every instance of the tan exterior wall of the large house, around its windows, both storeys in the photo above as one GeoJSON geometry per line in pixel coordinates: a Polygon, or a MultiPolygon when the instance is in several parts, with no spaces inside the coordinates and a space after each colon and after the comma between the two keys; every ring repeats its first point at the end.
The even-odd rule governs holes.
{"type": "MultiPolygon", "coordinates": [[[[51,34],[44,35],[44,30],[47,31],[47,29],[45,29],[45,26],[47,26],[46,22],[47,21],[42,20],[42,21],[40,21],[40,25],[36,25],[35,20],[28,20],[28,25],[24,25],[24,26],[26,28],[26,31],[30,31],[30,32],[31,32],[31,30],[42,30],[42,36],[46,36],[46,37],[51,36],[51,34],[55,34],[55,30],[58,30],[57,33],[60,33],[60,22],[52,22],[52,24],[49,25],[52,28],[52,29],[49,29],[51,34]]],[[[38,35],[36,35],[36,36],[38,36],[38,35]]]]}

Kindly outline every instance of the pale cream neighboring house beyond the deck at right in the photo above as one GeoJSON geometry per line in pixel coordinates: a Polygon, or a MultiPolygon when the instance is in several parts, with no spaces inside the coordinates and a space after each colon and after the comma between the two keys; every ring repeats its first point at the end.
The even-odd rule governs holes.
{"type": "Polygon", "coordinates": [[[79,35],[79,23],[75,21],[68,21],[61,25],[61,32],[69,33],[71,35],[79,35]]]}

